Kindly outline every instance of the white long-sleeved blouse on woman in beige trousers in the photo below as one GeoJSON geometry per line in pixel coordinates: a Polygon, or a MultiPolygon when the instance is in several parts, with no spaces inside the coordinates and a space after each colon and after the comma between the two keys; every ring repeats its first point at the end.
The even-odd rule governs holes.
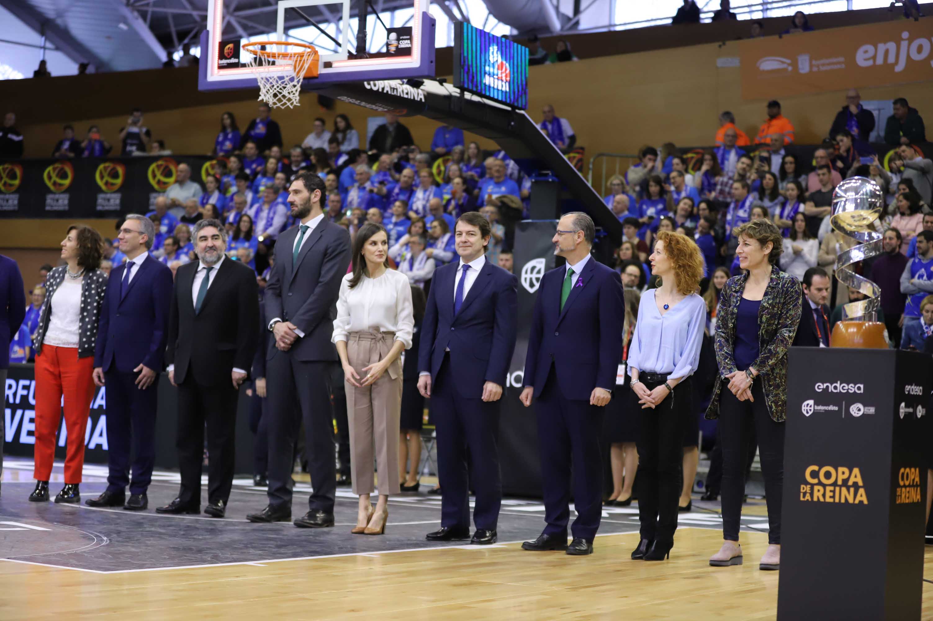
{"type": "Polygon", "coordinates": [[[350,289],[352,277],[345,275],[341,281],[331,342],[346,341],[350,332],[395,332],[396,340],[410,349],[414,311],[408,276],[387,269],[377,278],[364,275],[350,289]]]}

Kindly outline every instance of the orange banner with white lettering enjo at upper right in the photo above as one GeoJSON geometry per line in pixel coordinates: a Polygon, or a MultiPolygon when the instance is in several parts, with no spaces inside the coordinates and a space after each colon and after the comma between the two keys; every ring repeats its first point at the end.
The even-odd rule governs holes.
{"type": "Polygon", "coordinates": [[[933,79],[933,21],[888,21],[739,41],[743,99],[933,79]]]}

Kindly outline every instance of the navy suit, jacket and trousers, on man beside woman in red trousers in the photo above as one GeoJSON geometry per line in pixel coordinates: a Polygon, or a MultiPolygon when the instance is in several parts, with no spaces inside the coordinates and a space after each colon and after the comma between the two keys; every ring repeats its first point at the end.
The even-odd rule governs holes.
{"type": "Polygon", "coordinates": [[[94,367],[104,369],[106,386],[107,490],[122,494],[129,485],[131,494],[145,494],[156,457],[156,396],[168,338],[172,271],[146,257],[132,268],[124,291],[127,265],[114,268],[107,280],[94,367]],[[141,363],[156,372],[145,390],[136,386],[139,374],[133,371],[141,363]]]}

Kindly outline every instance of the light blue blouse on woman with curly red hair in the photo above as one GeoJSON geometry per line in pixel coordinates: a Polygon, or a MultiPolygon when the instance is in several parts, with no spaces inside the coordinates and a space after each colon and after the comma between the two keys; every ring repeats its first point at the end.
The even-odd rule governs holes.
{"type": "Polygon", "coordinates": [[[661,315],[654,300],[657,289],[642,293],[638,320],[629,346],[628,371],[689,377],[700,363],[706,303],[691,293],[661,315]]]}

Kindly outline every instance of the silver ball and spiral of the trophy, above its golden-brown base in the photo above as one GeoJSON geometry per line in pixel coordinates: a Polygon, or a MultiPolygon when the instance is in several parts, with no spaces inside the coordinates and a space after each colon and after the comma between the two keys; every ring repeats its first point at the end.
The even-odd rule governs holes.
{"type": "Polygon", "coordinates": [[[883,234],[878,217],[884,209],[884,192],[877,183],[864,176],[843,179],[832,192],[832,218],[829,223],[839,233],[858,242],[836,258],[836,278],[843,285],[857,289],[865,300],[842,305],[842,319],[877,321],[881,306],[881,288],[868,278],[857,275],[849,267],[858,261],[881,254],[883,234]]]}

